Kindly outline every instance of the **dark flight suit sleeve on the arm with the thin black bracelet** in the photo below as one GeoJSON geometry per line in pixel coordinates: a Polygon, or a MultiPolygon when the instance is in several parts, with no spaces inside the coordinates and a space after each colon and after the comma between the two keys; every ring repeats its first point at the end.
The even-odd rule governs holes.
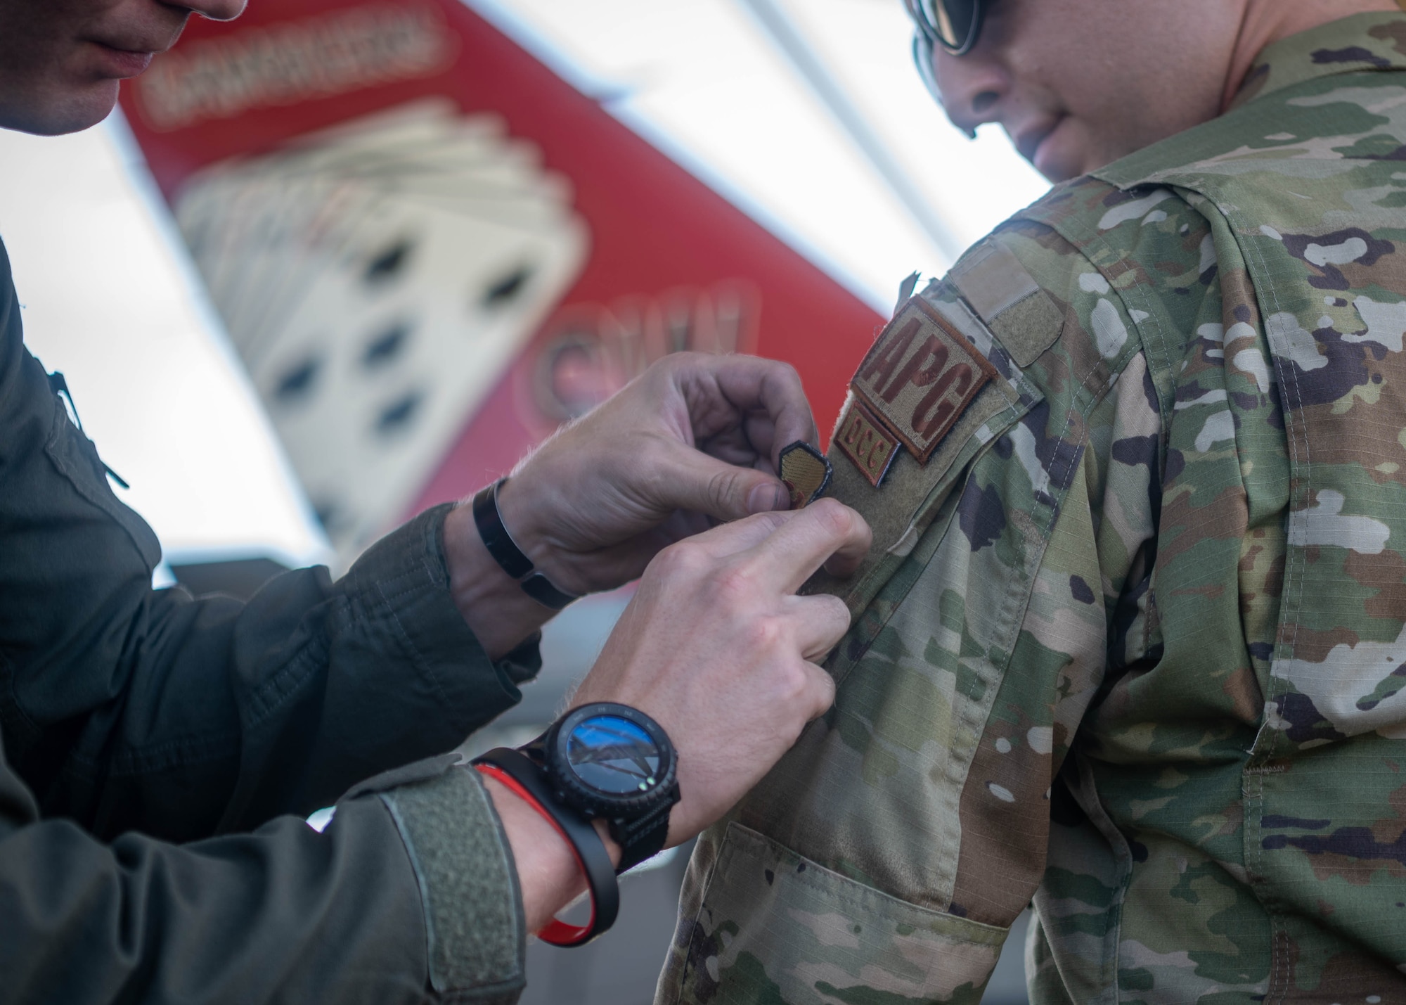
{"type": "Polygon", "coordinates": [[[308,814],[453,749],[537,669],[534,642],[491,662],[454,605],[447,507],[337,581],[152,590],[156,538],[24,349],[3,251],[0,429],[0,728],[46,816],[184,842],[308,814]]]}

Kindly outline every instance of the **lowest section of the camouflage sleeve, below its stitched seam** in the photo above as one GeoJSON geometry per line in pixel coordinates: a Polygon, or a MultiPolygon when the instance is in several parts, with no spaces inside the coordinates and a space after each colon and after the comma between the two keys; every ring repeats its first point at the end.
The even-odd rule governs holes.
{"type": "Polygon", "coordinates": [[[976,1005],[1007,930],[889,897],[734,821],[697,915],[681,919],[678,984],[666,970],[657,1001],[976,1005]]]}

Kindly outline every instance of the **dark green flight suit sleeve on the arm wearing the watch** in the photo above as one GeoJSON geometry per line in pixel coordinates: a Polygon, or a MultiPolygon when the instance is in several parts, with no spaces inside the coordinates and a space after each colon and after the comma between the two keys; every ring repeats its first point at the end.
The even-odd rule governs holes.
{"type": "Polygon", "coordinates": [[[512,853],[454,761],[359,785],[325,833],[281,816],[177,846],[41,818],[0,759],[0,998],[512,1005],[512,853]]]}

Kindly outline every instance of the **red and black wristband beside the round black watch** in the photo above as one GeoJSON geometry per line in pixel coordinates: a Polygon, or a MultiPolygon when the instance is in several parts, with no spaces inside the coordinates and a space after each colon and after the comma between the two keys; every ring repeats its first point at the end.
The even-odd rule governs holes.
{"type": "Polygon", "coordinates": [[[519,750],[496,747],[475,757],[474,767],[505,785],[551,823],[571,846],[576,864],[586,877],[591,921],[585,925],[568,925],[553,918],[537,932],[537,937],[553,946],[583,946],[614,925],[616,915],[620,914],[620,885],[605,842],[591,821],[562,805],[553,794],[541,766],[519,750]]]}

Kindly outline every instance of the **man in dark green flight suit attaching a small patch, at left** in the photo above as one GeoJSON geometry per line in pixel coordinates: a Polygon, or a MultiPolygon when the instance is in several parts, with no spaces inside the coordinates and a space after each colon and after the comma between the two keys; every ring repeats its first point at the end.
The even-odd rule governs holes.
{"type": "MultiPolygon", "coordinates": [[[[242,7],[0,0],[0,128],[87,128],[188,17],[242,7]]],[[[582,867],[513,778],[443,752],[540,666],[555,611],[527,593],[533,570],[568,594],[644,571],[574,701],[666,731],[678,802],[651,812],[644,849],[619,818],[576,819],[596,892],[631,845],[721,816],[834,694],[811,660],[849,612],[794,594],[869,532],[834,501],[773,512],[783,448],[817,439],[783,363],[662,360],[481,497],[496,533],[478,505],[434,507],[340,580],[294,570],[247,604],[152,588],[156,536],[55,383],[24,348],[0,245],[7,1005],[517,1001],[527,933],[582,867]],[[325,832],[304,823],[333,801],[325,832]]]]}

